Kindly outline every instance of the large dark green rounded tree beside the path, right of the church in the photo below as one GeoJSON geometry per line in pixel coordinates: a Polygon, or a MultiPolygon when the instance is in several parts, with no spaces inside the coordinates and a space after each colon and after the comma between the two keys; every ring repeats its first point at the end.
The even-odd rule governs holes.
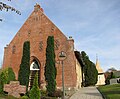
{"type": "Polygon", "coordinates": [[[88,55],[84,51],[81,52],[81,55],[85,63],[85,66],[83,67],[85,86],[95,85],[97,83],[98,77],[96,66],[92,61],[89,60],[88,55]]]}

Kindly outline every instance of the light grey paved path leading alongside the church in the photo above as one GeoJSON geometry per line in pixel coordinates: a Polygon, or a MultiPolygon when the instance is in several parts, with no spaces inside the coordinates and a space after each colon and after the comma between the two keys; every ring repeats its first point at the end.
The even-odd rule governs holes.
{"type": "Polygon", "coordinates": [[[73,94],[70,99],[103,99],[96,87],[84,87],[73,94]]]}

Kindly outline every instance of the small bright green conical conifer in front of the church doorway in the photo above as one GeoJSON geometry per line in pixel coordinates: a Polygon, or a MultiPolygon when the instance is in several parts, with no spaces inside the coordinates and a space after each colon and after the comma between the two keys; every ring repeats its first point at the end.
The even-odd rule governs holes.
{"type": "Polygon", "coordinates": [[[38,87],[38,72],[36,72],[32,89],[30,90],[30,99],[40,99],[40,89],[38,87]]]}

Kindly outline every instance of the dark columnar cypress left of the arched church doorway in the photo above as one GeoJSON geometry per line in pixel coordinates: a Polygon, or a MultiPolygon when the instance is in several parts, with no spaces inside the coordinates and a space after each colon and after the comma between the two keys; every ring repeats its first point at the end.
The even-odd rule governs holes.
{"type": "Polygon", "coordinates": [[[28,88],[30,75],[30,42],[26,41],[23,45],[23,55],[18,73],[18,80],[21,85],[28,88]]]}

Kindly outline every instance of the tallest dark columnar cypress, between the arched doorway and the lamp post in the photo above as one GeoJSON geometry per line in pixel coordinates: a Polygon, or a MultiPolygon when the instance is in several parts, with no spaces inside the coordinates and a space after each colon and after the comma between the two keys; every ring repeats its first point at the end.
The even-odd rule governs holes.
{"type": "Polygon", "coordinates": [[[45,64],[45,81],[49,96],[52,96],[56,89],[56,74],[55,67],[55,51],[54,51],[54,37],[49,36],[47,39],[46,48],[46,64],[45,64]]]}

